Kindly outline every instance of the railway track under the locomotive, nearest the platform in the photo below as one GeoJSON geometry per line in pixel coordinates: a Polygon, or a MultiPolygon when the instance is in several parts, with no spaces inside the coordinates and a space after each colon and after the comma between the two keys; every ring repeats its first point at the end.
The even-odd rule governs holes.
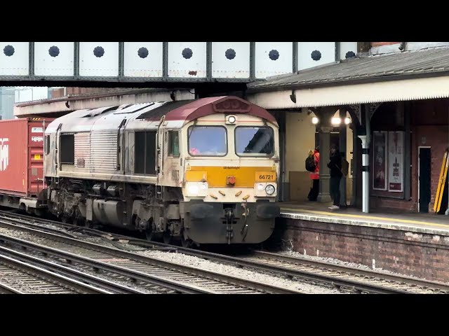
{"type": "MultiPolygon", "coordinates": [[[[0,220],[4,216],[0,211],[0,220]]],[[[15,216],[15,214],[13,215],[15,216]]],[[[19,215],[23,220],[29,221],[28,216],[19,215]]],[[[18,217],[19,218],[19,217],[18,217]]],[[[434,281],[426,281],[415,279],[410,276],[399,276],[394,274],[385,274],[368,269],[358,269],[354,267],[346,267],[335,265],[329,262],[319,262],[305,258],[295,258],[279,253],[269,253],[264,251],[252,251],[248,255],[233,256],[207,251],[199,251],[192,248],[183,248],[180,246],[172,246],[154,241],[145,241],[128,236],[111,235],[107,232],[90,228],[79,228],[75,225],[59,222],[47,222],[40,218],[34,223],[26,225],[56,225],[66,230],[83,230],[90,235],[106,236],[109,239],[123,239],[130,244],[144,246],[147,248],[159,248],[166,251],[178,251],[187,255],[196,256],[213,262],[221,262],[236,267],[254,269],[257,271],[276,274],[290,279],[302,279],[314,284],[323,284],[325,286],[334,286],[342,290],[349,290],[355,293],[449,293],[449,285],[434,281]]],[[[60,232],[58,229],[46,228],[45,230],[53,230],[60,232]]]]}

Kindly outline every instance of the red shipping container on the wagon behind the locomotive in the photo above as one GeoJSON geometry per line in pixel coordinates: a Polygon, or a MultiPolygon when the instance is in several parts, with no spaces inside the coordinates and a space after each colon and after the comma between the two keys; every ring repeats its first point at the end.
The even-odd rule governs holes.
{"type": "Polygon", "coordinates": [[[0,193],[36,197],[43,185],[44,127],[53,118],[0,120],[0,193]]]}

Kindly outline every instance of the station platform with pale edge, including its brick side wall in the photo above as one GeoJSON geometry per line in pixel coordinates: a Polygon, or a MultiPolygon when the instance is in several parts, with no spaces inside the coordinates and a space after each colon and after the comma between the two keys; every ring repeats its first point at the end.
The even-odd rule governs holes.
{"type": "Polygon", "coordinates": [[[449,216],[331,211],[331,204],[318,202],[280,205],[276,231],[293,251],[449,282],[449,216]]]}

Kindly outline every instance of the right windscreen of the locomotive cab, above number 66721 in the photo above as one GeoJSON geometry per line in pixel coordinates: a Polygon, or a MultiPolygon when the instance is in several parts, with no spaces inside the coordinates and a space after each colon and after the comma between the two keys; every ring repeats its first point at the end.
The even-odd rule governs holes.
{"type": "Polygon", "coordinates": [[[236,127],[236,154],[239,156],[272,156],[274,132],[272,127],[236,127]]]}

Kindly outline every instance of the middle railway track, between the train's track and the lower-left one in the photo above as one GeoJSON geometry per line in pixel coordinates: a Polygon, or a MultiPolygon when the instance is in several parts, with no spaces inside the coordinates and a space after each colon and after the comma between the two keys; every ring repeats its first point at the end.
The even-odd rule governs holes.
{"type": "Polygon", "coordinates": [[[67,265],[90,272],[102,272],[108,279],[124,278],[139,288],[158,292],[162,288],[162,293],[301,293],[11,223],[20,219],[8,221],[0,219],[0,244],[64,260],[67,265]],[[14,230],[36,237],[39,244],[13,237],[14,230]]]}

